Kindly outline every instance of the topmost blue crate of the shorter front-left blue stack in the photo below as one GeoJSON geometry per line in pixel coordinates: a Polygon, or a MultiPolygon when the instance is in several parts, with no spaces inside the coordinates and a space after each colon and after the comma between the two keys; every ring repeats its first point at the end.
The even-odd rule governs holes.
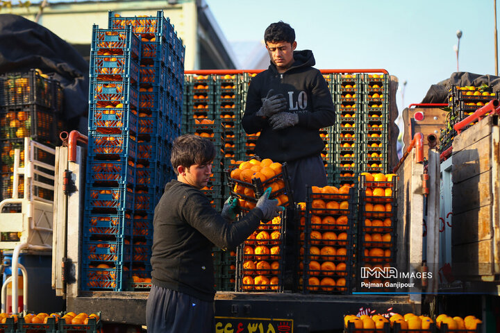
{"type": "Polygon", "coordinates": [[[132,33],[131,26],[117,29],[100,29],[97,24],[92,26],[92,44],[90,51],[102,53],[123,53],[130,51],[131,56],[140,56],[141,44],[139,38],[132,33]]]}

